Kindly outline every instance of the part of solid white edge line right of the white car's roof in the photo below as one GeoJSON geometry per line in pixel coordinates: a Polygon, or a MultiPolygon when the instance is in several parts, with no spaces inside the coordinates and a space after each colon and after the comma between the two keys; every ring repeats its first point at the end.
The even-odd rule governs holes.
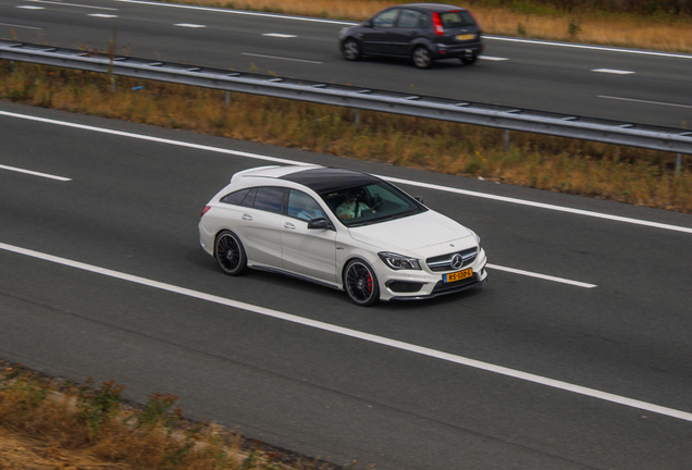
{"type": "Polygon", "coordinates": [[[548,205],[548,203],[544,203],[544,202],[534,202],[534,201],[530,201],[530,200],[527,200],[527,199],[515,199],[515,198],[510,198],[510,197],[506,197],[506,196],[496,196],[496,195],[486,194],[486,193],[477,193],[477,191],[471,191],[471,190],[467,190],[467,189],[458,189],[458,188],[453,188],[453,187],[447,187],[447,186],[438,186],[438,185],[433,185],[433,184],[429,184],[429,183],[415,182],[415,181],[410,181],[410,180],[400,180],[400,178],[395,178],[395,177],[390,177],[390,176],[382,176],[382,175],[378,175],[378,176],[381,177],[382,180],[386,180],[386,181],[390,181],[392,183],[399,183],[399,184],[405,184],[405,185],[410,185],[410,186],[424,187],[424,188],[428,188],[428,189],[435,189],[435,190],[441,190],[441,191],[446,191],[446,193],[454,193],[454,194],[461,194],[461,195],[466,195],[466,196],[473,196],[473,197],[479,197],[479,198],[483,198],[483,199],[491,199],[491,200],[497,200],[497,201],[503,201],[503,202],[510,202],[510,203],[516,203],[516,205],[521,205],[521,206],[529,206],[529,207],[534,207],[534,208],[540,208],[540,209],[547,209],[547,210],[554,210],[554,211],[559,211],[559,212],[573,213],[573,214],[578,214],[578,215],[585,215],[585,217],[591,217],[591,218],[595,218],[595,219],[605,219],[605,220],[610,220],[610,221],[615,221],[615,222],[623,222],[623,223],[630,223],[630,224],[634,224],[634,225],[643,225],[643,226],[648,226],[648,227],[654,227],[654,228],[662,228],[662,230],[669,230],[669,231],[674,231],[674,232],[683,232],[683,233],[692,234],[692,228],[685,227],[685,226],[680,226],[680,225],[670,225],[670,224],[664,224],[664,223],[659,223],[659,222],[651,222],[651,221],[646,221],[646,220],[642,220],[642,219],[631,219],[631,218],[625,218],[625,217],[620,217],[620,215],[610,215],[610,214],[606,214],[606,213],[602,213],[602,212],[592,212],[592,211],[582,210],[582,209],[572,209],[572,208],[568,208],[568,207],[564,207],[564,206],[555,206],[555,205],[548,205]]]}

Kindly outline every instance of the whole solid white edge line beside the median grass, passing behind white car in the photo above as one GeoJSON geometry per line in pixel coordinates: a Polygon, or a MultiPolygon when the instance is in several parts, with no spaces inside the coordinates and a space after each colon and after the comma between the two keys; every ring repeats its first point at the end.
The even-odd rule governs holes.
{"type": "MultiPolygon", "coordinates": [[[[52,119],[47,119],[47,118],[33,116],[33,115],[28,115],[28,114],[18,114],[18,113],[13,113],[13,112],[9,112],[9,111],[0,111],[0,115],[7,115],[7,116],[10,116],[10,118],[24,119],[24,120],[28,120],[28,121],[44,122],[44,123],[48,123],[48,124],[55,124],[55,125],[61,125],[61,126],[65,126],[65,127],[81,128],[81,129],[84,129],[84,131],[98,132],[98,133],[102,133],[102,134],[110,134],[110,135],[116,135],[116,136],[122,136],[122,137],[131,137],[131,138],[141,139],[141,140],[149,140],[149,141],[156,141],[156,143],[161,143],[161,144],[170,144],[170,145],[174,145],[174,146],[178,146],[178,147],[194,148],[194,149],[197,149],[197,150],[207,150],[207,151],[213,151],[213,152],[218,152],[218,153],[226,153],[226,154],[233,154],[233,156],[237,156],[237,157],[246,157],[246,158],[251,158],[251,159],[256,159],[256,160],[271,161],[271,162],[275,162],[275,163],[298,164],[298,165],[310,165],[311,164],[311,163],[305,163],[305,162],[295,161],[295,160],[282,159],[282,158],[277,158],[277,157],[269,157],[269,156],[262,156],[262,154],[258,154],[258,153],[249,153],[249,152],[242,152],[242,151],[236,151],[236,150],[228,150],[228,149],[224,149],[224,148],[220,148],[220,147],[203,146],[203,145],[190,144],[190,143],[186,143],[186,141],[182,141],[182,140],[172,140],[172,139],[166,139],[166,138],[152,137],[152,136],[148,136],[148,135],[144,135],[144,134],[133,134],[133,133],[127,133],[127,132],[123,132],[123,131],[113,131],[113,129],[109,129],[109,128],[104,128],[104,127],[96,127],[96,126],[89,126],[89,125],[85,125],[85,124],[76,124],[76,123],[71,123],[71,122],[66,122],[66,121],[58,121],[58,120],[52,120],[52,119]]],[[[521,206],[529,206],[529,207],[534,207],[534,208],[539,208],[539,209],[547,209],[547,210],[554,210],[554,211],[559,211],[559,212],[578,214],[578,215],[591,217],[591,218],[596,218],[596,219],[605,219],[605,220],[610,220],[610,221],[615,221],[615,222],[623,222],[623,223],[630,223],[630,224],[634,224],[634,225],[642,225],[642,226],[648,226],[648,227],[654,227],[654,228],[662,228],[662,230],[669,230],[669,231],[674,231],[674,232],[683,232],[683,233],[692,234],[692,228],[685,227],[685,226],[680,226],[680,225],[670,225],[670,224],[665,224],[665,223],[659,223],[659,222],[651,222],[651,221],[646,221],[646,220],[642,220],[642,219],[631,219],[631,218],[625,218],[625,217],[620,217],[620,215],[610,215],[610,214],[601,213],[601,212],[592,212],[592,211],[582,210],[582,209],[572,209],[572,208],[568,208],[568,207],[564,207],[564,206],[555,206],[555,205],[548,205],[548,203],[544,203],[544,202],[534,202],[534,201],[530,201],[530,200],[527,200],[527,199],[515,199],[515,198],[510,198],[510,197],[506,197],[506,196],[496,196],[496,195],[486,194],[486,193],[478,193],[478,191],[472,191],[472,190],[467,190],[467,189],[458,189],[458,188],[453,188],[453,187],[448,187],[448,186],[440,186],[440,185],[434,185],[434,184],[429,184],[429,183],[415,182],[415,181],[410,181],[410,180],[401,180],[401,178],[395,178],[395,177],[390,177],[390,176],[380,176],[380,177],[383,178],[383,180],[390,181],[392,183],[400,183],[400,184],[405,184],[405,185],[424,187],[424,188],[428,188],[428,189],[434,189],[434,190],[440,190],[440,191],[460,194],[460,195],[466,195],[466,196],[479,197],[479,198],[483,198],[483,199],[497,200],[497,201],[502,201],[502,202],[510,202],[510,203],[516,203],[516,205],[521,205],[521,206]]]]}

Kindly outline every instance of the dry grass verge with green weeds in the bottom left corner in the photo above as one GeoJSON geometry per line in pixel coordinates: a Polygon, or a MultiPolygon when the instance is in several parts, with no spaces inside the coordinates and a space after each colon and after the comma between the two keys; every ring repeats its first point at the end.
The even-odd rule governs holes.
{"type": "Polygon", "coordinates": [[[183,418],[172,395],[127,405],[114,382],[52,381],[0,361],[0,468],[336,470],[183,418]]]}

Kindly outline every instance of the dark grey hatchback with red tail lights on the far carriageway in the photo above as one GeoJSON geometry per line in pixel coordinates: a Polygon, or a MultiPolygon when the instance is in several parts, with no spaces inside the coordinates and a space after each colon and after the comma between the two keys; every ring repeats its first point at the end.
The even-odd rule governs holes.
{"type": "Polygon", "coordinates": [[[419,69],[440,59],[471,65],[483,52],[481,26],[471,12],[442,3],[410,3],[382,10],[338,35],[344,58],[406,57],[419,69]]]}

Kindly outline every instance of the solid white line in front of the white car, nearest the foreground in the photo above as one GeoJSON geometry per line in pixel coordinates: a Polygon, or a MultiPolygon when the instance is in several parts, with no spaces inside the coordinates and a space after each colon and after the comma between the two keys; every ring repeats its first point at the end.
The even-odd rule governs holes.
{"type": "Polygon", "coordinates": [[[684,421],[692,421],[692,413],[690,412],[685,412],[685,411],[681,411],[681,410],[677,410],[674,408],[667,408],[667,407],[663,407],[659,405],[654,405],[654,404],[650,404],[646,401],[640,401],[637,399],[632,399],[632,398],[627,398],[620,395],[615,395],[615,394],[610,394],[607,392],[602,392],[602,391],[597,391],[594,388],[588,388],[584,386],[580,386],[580,385],[574,385],[574,384],[570,384],[568,382],[563,382],[563,381],[557,381],[557,380],[553,380],[553,379],[548,379],[548,378],[544,378],[541,375],[536,375],[536,374],[532,374],[532,373],[528,373],[528,372],[521,372],[515,369],[509,369],[509,368],[505,368],[502,366],[495,366],[489,362],[483,362],[483,361],[479,361],[475,359],[470,359],[470,358],[466,358],[462,356],[457,356],[457,355],[453,355],[453,354],[448,354],[448,352],[443,352],[436,349],[431,349],[431,348],[427,348],[423,346],[417,346],[410,343],[404,343],[397,339],[391,339],[384,336],[378,336],[378,335],[373,335],[370,333],[364,333],[358,330],[351,330],[351,329],[347,329],[347,327],[343,327],[343,326],[338,326],[338,325],[334,325],[331,323],[324,323],[321,321],[317,321],[317,320],[311,320],[311,319],[307,319],[304,317],[298,317],[298,316],[294,316],[291,313],[285,313],[279,310],[273,310],[273,309],[268,309],[264,307],[259,307],[256,305],[251,305],[251,304],[246,304],[246,302],[242,302],[238,300],[232,300],[232,299],[227,299],[224,297],[219,297],[215,295],[211,295],[211,294],[206,294],[206,293],[201,293],[198,290],[193,290],[193,289],[188,289],[185,287],[180,287],[180,286],[175,286],[172,284],[166,284],[166,283],[162,283],[162,282],[158,282],[158,281],[152,281],[152,280],[148,280],[146,277],[140,277],[140,276],[136,276],[136,275],[132,275],[132,274],[126,274],[126,273],[122,273],[119,271],[113,271],[113,270],[109,270],[106,268],[100,268],[100,267],[96,267],[92,264],[87,264],[87,263],[83,263],[79,261],[73,261],[66,258],[60,258],[57,256],[52,256],[52,255],[47,255],[47,253],[42,253],[39,251],[34,251],[34,250],[29,250],[26,248],[21,248],[21,247],[16,247],[13,245],[7,245],[3,243],[0,243],[0,249],[7,250],[7,251],[11,251],[17,255],[24,255],[24,256],[28,256],[32,258],[36,258],[36,259],[40,259],[40,260],[45,260],[45,261],[50,261],[57,264],[62,264],[62,265],[66,265],[70,268],[75,268],[75,269],[79,269],[83,271],[88,271],[88,272],[92,272],[96,274],[102,274],[104,276],[109,276],[109,277],[113,277],[113,279],[118,279],[121,281],[127,281],[127,282],[132,282],[135,284],[139,284],[139,285],[144,285],[144,286],[148,286],[148,287],[153,287],[153,288],[158,288],[161,290],[165,290],[165,292],[170,292],[170,293],[174,293],[174,294],[180,294],[180,295],[184,295],[187,297],[191,297],[191,298],[196,298],[199,300],[205,300],[205,301],[209,301],[209,302],[213,302],[213,304],[219,304],[219,305],[223,305],[223,306],[227,306],[227,307],[232,307],[232,308],[236,308],[236,309],[240,309],[240,310],[245,310],[245,311],[249,311],[252,313],[258,313],[258,314],[262,314],[262,316],[267,316],[267,317],[271,317],[271,318],[275,318],[279,320],[285,320],[292,323],[297,323],[297,324],[301,324],[305,326],[310,326],[310,327],[314,327],[318,330],[322,330],[322,331],[326,331],[326,332],[331,332],[331,333],[336,333],[339,335],[344,335],[344,336],[349,336],[349,337],[354,337],[354,338],[358,338],[358,339],[362,339],[366,342],[370,342],[370,343],[374,343],[374,344],[379,344],[379,345],[383,345],[383,346],[390,346],[396,349],[400,349],[400,350],[405,350],[408,352],[413,352],[413,354],[418,354],[418,355],[422,355],[422,356],[428,356],[431,358],[435,358],[435,359],[440,359],[440,360],[444,360],[444,361],[448,361],[448,362],[454,362],[454,363],[458,363],[461,366],[467,366],[473,369],[480,369],[483,371],[487,371],[487,372],[493,372],[499,375],[505,375],[505,376],[509,376],[512,379],[519,379],[522,381],[527,381],[527,382],[533,382],[536,384],[541,384],[541,385],[545,385],[545,386],[549,386],[553,388],[557,388],[557,389],[561,389],[561,391],[566,391],[566,392],[572,392],[579,395],[585,395],[589,397],[593,397],[593,398],[597,398],[601,400],[605,400],[605,401],[610,401],[610,403],[615,403],[618,405],[625,405],[631,408],[637,408],[640,410],[644,410],[644,411],[651,411],[651,412],[655,412],[658,415],[664,415],[664,416],[668,416],[671,418],[678,418],[684,421]]]}

